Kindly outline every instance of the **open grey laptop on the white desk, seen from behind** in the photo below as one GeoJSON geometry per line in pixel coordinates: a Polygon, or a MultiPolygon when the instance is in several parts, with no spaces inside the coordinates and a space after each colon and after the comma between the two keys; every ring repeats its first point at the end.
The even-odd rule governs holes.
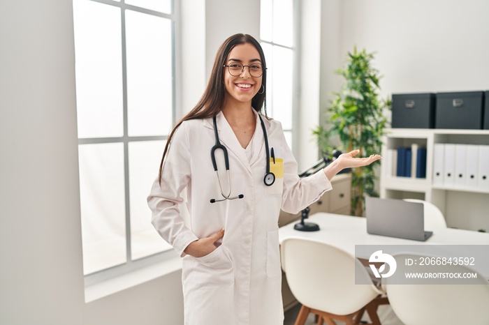
{"type": "Polygon", "coordinates": [[[433,232],[425,232],[422,203],[402,199],[365,197],[367,233],[425,241],[433,232]]]}

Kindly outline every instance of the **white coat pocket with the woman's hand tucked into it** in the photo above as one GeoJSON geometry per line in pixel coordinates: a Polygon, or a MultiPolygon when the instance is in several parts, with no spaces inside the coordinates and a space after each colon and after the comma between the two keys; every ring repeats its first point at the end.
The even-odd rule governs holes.
{"type": "Polygon", "coordinates": [[[187,256],[184,257],[182,266],[184,282],[199,286],[232,285],[234,283],[233,260],[223,245],[203,257],[187,256]]]}

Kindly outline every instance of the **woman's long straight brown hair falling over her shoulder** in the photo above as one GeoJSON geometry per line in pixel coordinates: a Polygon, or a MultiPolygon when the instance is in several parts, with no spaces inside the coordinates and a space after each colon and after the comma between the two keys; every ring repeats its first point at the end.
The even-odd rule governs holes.
{"type": "Polygon", "coordinates": [[[263,54],[263,49],[261,48],[260,43],[253,37],[248,34],[235,34],[229,37],[227,40],[222,43],[221,47],[217,51],[216,58],[214,59],[214,66],[212,67],[212,72],[210,74],[209,82],[207,83],[207,87],[205,91],[198,101],[197,105],[191,109],[187,115],[185,115],[171,130],[170,135],[168,135],[168,139],[166,141],[165,150],[163,151],[163,157],[161,158],[161,162],[159,165],[159,183],[161,185],[161,173],[163,172],[163,161],[165,160],[166,153],[168,152],[168,148],[170,146],[171,139],[175,130],[182,124],[183,121],[188,121],[191,119],[207,119],[219,113],[221,108],[224,106],[224,99],[226,88],[224,86],[224,64],[226,64],[226,59],[228,58],[229,52],[233,50],[236,45],[242,45],[250,43],[256,47],[258,53],[260,54],[261,63],[263,66],[263,76],[261,79],[261,84],[263,85],[263,92],[256,93],[256,95],[251,100],[251,107],[253,107],[256,112],[260,112],[263,107],[263,113],[267,116],[267,108],[266,108],[266,89],[265,84],[267,83],[267,70],[265,63],[265,54],[263,54]]]}

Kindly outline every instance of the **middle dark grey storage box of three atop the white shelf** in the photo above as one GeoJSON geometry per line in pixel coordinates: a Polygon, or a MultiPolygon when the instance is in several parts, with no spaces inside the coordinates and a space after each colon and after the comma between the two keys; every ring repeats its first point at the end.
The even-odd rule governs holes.
{"type": "Polygon", "coordinates": [[[483,91],[437,93],[435,128],[481,129],[483,91]]]}

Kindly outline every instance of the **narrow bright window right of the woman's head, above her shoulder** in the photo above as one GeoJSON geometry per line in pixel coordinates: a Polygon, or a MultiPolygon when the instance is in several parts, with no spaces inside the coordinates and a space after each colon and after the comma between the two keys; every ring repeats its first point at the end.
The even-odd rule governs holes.
{"type": "Polygon", "coordinates": [[[267,60],[267,110],[282,122],[293,149],[295,98],[295,15],[293,0],[261,0],[260,38],[267,60]]]}

